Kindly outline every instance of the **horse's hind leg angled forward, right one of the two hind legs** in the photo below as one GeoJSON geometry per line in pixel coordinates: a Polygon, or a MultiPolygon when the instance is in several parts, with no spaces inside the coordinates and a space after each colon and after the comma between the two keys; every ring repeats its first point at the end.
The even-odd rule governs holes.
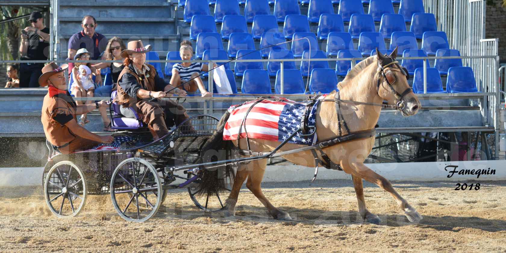
{"type": "Polygon", "coordinates": [[[267,159],[254,161],[252,164],[250,163],[248,165],[253,165],[254,170],[249,172],[246,187],[258,198],[258,200],[260,200],[260,202],[262,202],[262,204],[264,204],[269,214],[274,217],[274,219],[279,221],[291,221],[292,219],[290,215],[274,207],[274,205],[271,204],[262,192],[261,184],[262,179],[264,178],[265,167],[267,166],[267,159]]]}

